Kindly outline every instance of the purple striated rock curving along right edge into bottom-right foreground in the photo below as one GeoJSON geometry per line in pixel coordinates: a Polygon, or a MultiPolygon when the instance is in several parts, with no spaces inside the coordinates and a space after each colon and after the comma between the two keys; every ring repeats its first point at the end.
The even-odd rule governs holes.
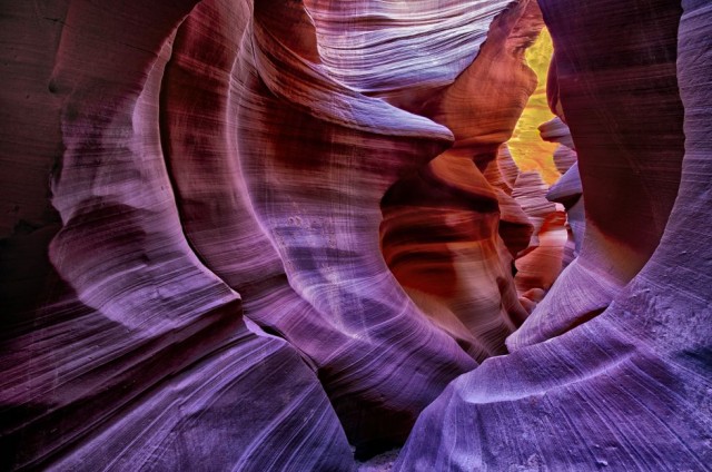
{"type": "MultiPolygon", "coordinates": [[[[630,36],[627,31],[625,38],[652,48],[637,60],[669,63],[656,65],[656,73],[670,70],[676,58],[685,136],[676,200],[656,250],[625,288],[612,294],[607,308],[561,335],[546,333],[542,335],[545,342],[517,346],[512,354],[490,358],[458,377],[419,416],[394,469],[709,471],[712,311],[711,281],[704,265],[710,260],[712,240],[709,232],[700,228],[712,223],[712,7],[704,1],[685,1],[681,12],[669,2],[541,3],[555,43],[566,39],[572,45],[578,37],[589,37],[565,56],[580,65],[586,63],[586,51],[601,51],[591,48],[591,39],[610,38],[620,31],[602,21],[606,14],[635,14],[637,21],[627,22],[627,28],[640,28],[645,35],[630,36]]],[[[611,40],[623,41],[621,35],[611,40]]],[[[563,57],[557,55],[558,66],[563,57]]],[[[601,63],[600,56],[593,59],[601,63]]],[[[615,63],[624,67],[629,62],[616,57],[615,63]]],[[[583,164],[587,145],[576,139],[578,128],[572,119],[581,102],[564,98],[567,94],[575,97],[576,82],[561,81],[560,92],[583,164]]],[[[646,89],[647,94],[665,97],[668,88],[656,86],[661,89],[646,89]]],[[[661,105],[657,98],[655,107],[661,105]]],[[[674,128],[670,122],[666,126],[674,128]]],[[[583,173],[585,167],[581,169],[583,173]]],[[[587,196],[590,187],[583,180],[587,196]]],[[[582,258],[583,254],[578,260],[582,258]]],[[[572,264],[567,271],[572,267],[576,266],[572,264]]],[[[605,279],[601,269],[599,266],[599,278],[605,279]]],[[[565,277],[563,274],[560,281],[565,277]]],[[[578,278],[578,285],[570,288],[577,289],[580,296],[595,286],[578,278]]],[[[525,326],[533,319],[530,317],[525,326]]]]}

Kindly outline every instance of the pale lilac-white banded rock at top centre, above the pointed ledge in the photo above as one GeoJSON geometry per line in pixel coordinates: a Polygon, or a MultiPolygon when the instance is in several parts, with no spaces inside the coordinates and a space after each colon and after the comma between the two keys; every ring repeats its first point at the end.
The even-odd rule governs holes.
{"type": "Polygon", "coordinates": [[[328,75],[406,110],[453,83],[510,3],[305,0],[328,75]]]}

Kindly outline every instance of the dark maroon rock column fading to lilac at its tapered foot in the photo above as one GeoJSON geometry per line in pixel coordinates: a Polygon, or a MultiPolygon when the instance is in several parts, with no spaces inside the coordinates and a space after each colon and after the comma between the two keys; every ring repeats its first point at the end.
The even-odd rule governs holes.
{"type": "MultiPolygon", "coordinates": [[[[613,11],[620,10],[620,16],[611,28],[633,31],[629,22],[637,21],[633,20],[637,8],[616,7],[613,11]]],[[[555,90],[558,101],[553,109],[563,109],[577,154],[585,235],[580,256],[507,340],[510,351],[564,333],[601,313],[643,267],[676,196],[683,156],[683,109],[675,76],[679,10],[668,6],[653,14],[645,8],[645,21],[635,27],[645,40],[596,27],[595,16],[582,19],[576,13],[571,22],[574,17],[558,4],[548,11],[556,48],[550,94],[555,90]],[[596,114],[590,112],[591,97],[606,98],[596,114]]],[[[605,22],[612,13],[601,9],[599,14],[605,22]]],[[[573,208],[578,233],[581,213],[581,207],[573,208]]]]}

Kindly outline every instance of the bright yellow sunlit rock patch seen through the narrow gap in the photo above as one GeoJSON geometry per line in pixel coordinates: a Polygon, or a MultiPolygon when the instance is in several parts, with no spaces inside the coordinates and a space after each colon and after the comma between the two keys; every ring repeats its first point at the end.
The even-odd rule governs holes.
{"type": "Polygon", "coordinates": [[[537,127],[554,118],[546,102],[546,72],[553,51],[551,35],[544,28],[536,42],[526,50],[525,56],[526,62],[536,72],[538,80],[536,90],[530,97],[508,141],[510,151],[520,169],[538,171],[548,185],[560,177],[553,160],[557,145],[544,141],[540,137],[537,127]]]}

